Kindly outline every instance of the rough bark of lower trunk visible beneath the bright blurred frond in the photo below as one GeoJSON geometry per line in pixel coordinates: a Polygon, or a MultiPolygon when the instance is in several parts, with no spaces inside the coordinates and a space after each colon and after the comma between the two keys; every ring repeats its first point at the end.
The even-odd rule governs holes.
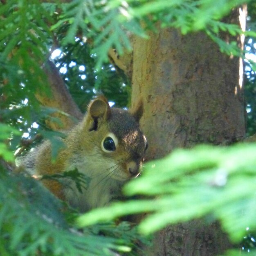
{"type": "Polygon", "coordinates": [[[194,220],[160,231],[153,247],[145,250],[146,256],[213,256],[230,247],[227,236],[218,223],[205,225],[194,220]]]}

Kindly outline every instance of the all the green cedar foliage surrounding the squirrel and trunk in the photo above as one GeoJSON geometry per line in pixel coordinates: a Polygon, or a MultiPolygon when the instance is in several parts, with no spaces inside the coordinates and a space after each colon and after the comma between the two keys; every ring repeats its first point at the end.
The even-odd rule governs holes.
{"type": "MultiPolygon", "coordinates": [[[[99,93],[105,94],[116,106],[129,104],[130,81],[121,70],[108,63],[108,50],[114,47],[118,54],[131,51],[130,34],[146,38],[148,30],[157,30],[157,22],[161,27],[180,29],[183,34],[205,31],[222,52],[241,54],[236,44],[227,45],[219,38],[222,31],[234,36],[241,33],[240,29],[220,19],[246,1],[42,2],[0,2],[0,156],[5,161],[13,161],[13,151],[20,146],[21,134],[31,139],[40,133],[54,145],[58,140],[56,135],[62,136],[45,126],[45,119],[56,110],[43,108],[35,97],[36,93],[50,92],[41,69],[48,58],[52,57],[70,94],[85,112],[89,100],[99,93]],[[53,57],[56,49],[60,54],[53,57]]],[[[251,11],[247,45],[251,44],[250,51],[255,53],[256,7],[254,1],[247,2],[251,11]]],[[[253,67],[252,63],[248,67],[253,67]]],[[[256,130],[255,73],[253,68],[247,73],[247,107],[251,108],[248,133],[252,134],[256,130]]],[[[137,245],[146,241],[136,229],[127,222],[119,225],[96,222],[141,211],[152,213],[139,226],[144,233],[169,223],[207,216],[208,221],[221,220],[231,238],[240,241],[247,235],[248,225],[255,231],[255,150],[251,145],[177,151],[166,159],[149,163],[144,177],[127,185],[126,193],[141,193],[148,196],[146,200],[95,210],[87,217],[79,217],[77,222],[79,214],[54,198],[36,180],[16,176],[1,164],[0,254],[103,256],[115,255],[117,251],[127,256],[137,255],[137,245]],[[155,195],[159,197],[152,201],[150,196],[155,195]],[[169,207],[173,204],[177,206],[175,209],[169,207]],[[94,225],[78,229],[76,223],[80,227],[94,225]]],[[[249,246],[247,243],[245,248],[249,246]]]]}

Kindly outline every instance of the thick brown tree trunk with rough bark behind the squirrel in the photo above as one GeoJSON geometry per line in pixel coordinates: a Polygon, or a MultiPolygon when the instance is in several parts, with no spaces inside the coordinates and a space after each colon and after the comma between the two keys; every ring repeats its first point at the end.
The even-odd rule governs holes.
{"type": "MultiPolygon", "coordinates": [[[[238,22],[238,14],[236,9],[229,21],[238,22]]],[[[222,54],[202,32],[183,36],[175,29],[159,30],[149,40],[135,38],[133,49],[132,104],[138,97],[145,103],[147,160],[177,147],[230,144],[245,136],[241,59],[222,54]]],[[[217,223],[202,220],[168,227],[154,244],[145,255],[211,256],[230,247],[217,223]]]]}

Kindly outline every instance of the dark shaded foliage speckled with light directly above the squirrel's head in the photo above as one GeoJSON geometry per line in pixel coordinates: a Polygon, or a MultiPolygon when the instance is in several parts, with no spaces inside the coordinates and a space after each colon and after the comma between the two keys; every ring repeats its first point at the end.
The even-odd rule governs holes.
{"type": "Polygon", "coordinates": [[[104,94],[116,107],[128,105],[130,81],[124,72],[111,64],[102,64],[97,70],[96,57],[91,47],[79,38],[73,44],[65,45],[59,56],[54,58],[73,99],[82,112],[86,112],[88,102],[96,94],[104,94]]]}

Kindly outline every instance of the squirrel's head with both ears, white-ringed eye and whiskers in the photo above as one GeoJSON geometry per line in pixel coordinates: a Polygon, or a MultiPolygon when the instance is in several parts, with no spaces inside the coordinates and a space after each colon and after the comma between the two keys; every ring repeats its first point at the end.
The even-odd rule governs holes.
{"type": "Polygon", "coordinates": [[[82,144],[91,145],[91,156],[97,156],[95,164],[105,166],[109,177],[115,180],[136,177],[141,171],[147,148],[146,137],[139,128],[142,114],[141,100],[130,111],[110,108],[103,96],[88,106],[82,123],[87,136],[81,138],[82,144]]]}

